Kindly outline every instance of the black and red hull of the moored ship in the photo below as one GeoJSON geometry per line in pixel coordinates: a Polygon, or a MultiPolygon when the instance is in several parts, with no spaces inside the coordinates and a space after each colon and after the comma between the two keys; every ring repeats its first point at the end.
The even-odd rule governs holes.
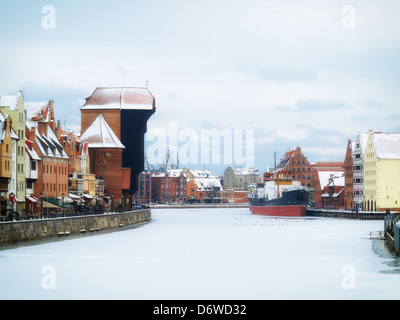
{"type": "Polygon", "coordinates": [[[303,189],[287,191],[278,199],[249,198],[253,214],[283,217],[304,217],[307,215],[308,192],[303,189]]]}

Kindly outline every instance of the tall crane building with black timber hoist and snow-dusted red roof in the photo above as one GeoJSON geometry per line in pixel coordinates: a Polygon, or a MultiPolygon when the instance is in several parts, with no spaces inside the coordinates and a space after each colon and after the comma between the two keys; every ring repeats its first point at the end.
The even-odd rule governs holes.
{"type": "Polygon", "coordinates": [[[124,145],[122,150],[114,149],[110,153],[112,158],[122,157],[122,167],[131,169],[130,187],[127,190],[130,196],[137,191],[138,176],[144,169],[144,134],[147,120],[154,112],[153,95],[147,88],[136,87],[96,88],[81,108],[81,132],[85,132],[102,115],[124,145]]]}

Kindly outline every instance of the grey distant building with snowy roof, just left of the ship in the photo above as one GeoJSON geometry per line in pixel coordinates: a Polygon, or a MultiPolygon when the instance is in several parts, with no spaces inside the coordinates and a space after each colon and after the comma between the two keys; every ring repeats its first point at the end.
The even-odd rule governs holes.
{"type": "Polygon", "coordinates": [[[254,168],[226,168],[224,171],[224,189],[247,190],[247,187],[260,181],[260,173],[254,168]]]}

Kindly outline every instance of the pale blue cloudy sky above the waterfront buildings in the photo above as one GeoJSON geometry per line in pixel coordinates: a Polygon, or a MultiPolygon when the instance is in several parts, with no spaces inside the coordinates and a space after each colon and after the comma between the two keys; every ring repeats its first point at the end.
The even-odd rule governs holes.
{"type": "Polygon", "coordinates": [[[274,152],[343,161],[357,133],[400,132],[398,1],[2,0],[0,12],[0,95],[53,99],[78,132],[96,87],[147,86],[152,162],[171,149],[190,168],[264,172],[274,152]],[[207,153],[207,130],[228,143],[207,153]]]}

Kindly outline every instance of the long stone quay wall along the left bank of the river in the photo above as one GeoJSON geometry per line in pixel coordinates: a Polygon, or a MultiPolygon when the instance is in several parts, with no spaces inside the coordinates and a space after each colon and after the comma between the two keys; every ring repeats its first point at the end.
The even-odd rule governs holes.
{"type": "Polygon", "coordinates": [[[151,210],[0,223],[0,245],[121,228],[151,220],[151,210]]]}

